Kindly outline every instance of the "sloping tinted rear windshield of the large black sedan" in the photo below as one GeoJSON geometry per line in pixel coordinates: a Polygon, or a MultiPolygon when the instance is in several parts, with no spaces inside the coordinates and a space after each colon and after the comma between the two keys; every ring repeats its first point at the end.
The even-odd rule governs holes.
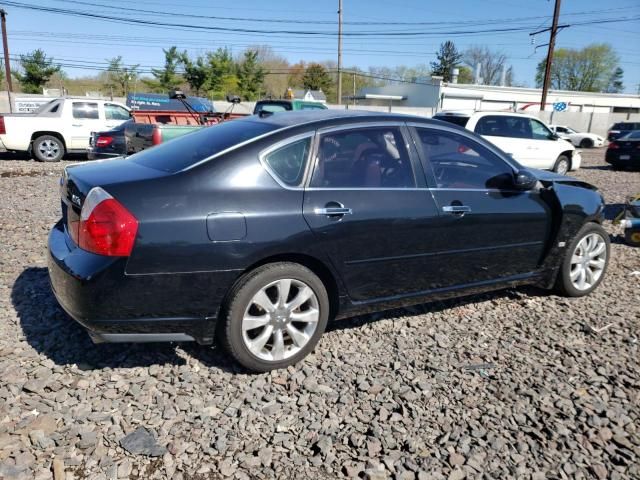
{"type": "Polygon", "coordinates": [[[205,127],[167,143],[132,155],[132,161],[164,172],[175,173],[218,152],[279,128],[250,120],[233,120],[205,127]]]}

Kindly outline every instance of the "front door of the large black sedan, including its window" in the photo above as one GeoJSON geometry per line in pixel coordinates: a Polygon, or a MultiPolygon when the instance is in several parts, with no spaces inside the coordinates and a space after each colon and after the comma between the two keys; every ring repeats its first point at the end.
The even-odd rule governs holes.
{"type": "Polygon", "coordinates": [[[445,286],[528,277],[542,261],[551,212],[537,190],[514,188],[515,168],[471,136],[412,126],[441,212],[432,248],[445,286]]]}

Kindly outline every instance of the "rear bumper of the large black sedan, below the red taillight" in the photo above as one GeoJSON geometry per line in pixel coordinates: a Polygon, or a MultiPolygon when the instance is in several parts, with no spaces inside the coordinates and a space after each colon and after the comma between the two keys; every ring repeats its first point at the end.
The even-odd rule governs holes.
{"type": "Polygon", "coordinates": [[[180,290],[179,275],[126,275],[126,258],[78,248],[62,222],[51,230],[48,246],[53,293],[94,342],[213,343],[215,317],[185,315],[180,305],[189,295],[180,290]]]}

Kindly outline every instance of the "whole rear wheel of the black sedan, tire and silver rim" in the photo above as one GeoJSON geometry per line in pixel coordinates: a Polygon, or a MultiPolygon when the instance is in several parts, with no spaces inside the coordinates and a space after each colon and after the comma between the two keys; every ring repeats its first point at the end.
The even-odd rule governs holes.
{"type": "Polygon", "coordinates": [[[218,335],[238,363],[267,372],[306,357],[328,319],[329,296],[317,275],[297,263],[271,263],[236,282],[218,335]]]}

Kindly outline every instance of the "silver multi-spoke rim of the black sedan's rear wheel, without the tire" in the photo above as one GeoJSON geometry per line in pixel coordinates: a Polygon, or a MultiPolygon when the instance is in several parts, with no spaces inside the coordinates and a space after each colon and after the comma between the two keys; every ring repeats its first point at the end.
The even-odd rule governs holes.
{"type": "Polygon", "coordinates": [[[256,357],[280,361],[307,345],[320,319],[318,297],[291,278],[271,282],[251,299],[242,318],[242,339],[256,357]]]}

